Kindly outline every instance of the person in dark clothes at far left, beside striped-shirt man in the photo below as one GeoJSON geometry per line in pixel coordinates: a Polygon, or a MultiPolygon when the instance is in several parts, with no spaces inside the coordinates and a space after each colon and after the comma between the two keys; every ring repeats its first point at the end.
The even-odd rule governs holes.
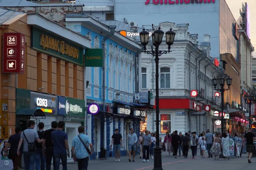
{"type": "Polygon", "coordinates": [[[18,150],[21,132],[22,132],[22,129],[20,127],[15,128],[15,134],[11,135],[10,138],[8,139],[7,147],[5,148],[4,155],[3,155],[4,157],[6,157],[7,152],[9,152],[8,158],[12,159],[13,170],[19,170],[19,167],[20,167],[21,155],[22,155],[21,151],[23,150],[23,145],[20,148],[20,156],[17,155],[17,150],[18,150]]]}

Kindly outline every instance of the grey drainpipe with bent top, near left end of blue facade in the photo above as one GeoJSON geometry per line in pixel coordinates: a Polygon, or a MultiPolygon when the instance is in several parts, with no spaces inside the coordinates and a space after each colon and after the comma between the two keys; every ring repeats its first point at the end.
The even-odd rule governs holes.
{"type": "MultiPolygon", "coordinates": [[[[103,66],[102,66],[102,105],[103,105],[103,112],[105,112],[105,41],[108,40],[114,33],[116,26],[109,26],[110,32],[103,38],[102,40],[102,50],[103,50],[103,66]]],[[[105,125],[101,125],[102,130],[102,147],[105,148],[105,125]]]]}

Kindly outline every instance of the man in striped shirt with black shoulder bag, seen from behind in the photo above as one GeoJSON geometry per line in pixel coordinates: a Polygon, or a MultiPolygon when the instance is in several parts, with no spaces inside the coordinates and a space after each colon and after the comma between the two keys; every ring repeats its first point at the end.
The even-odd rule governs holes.
{"type": "MultiPolygon", "coordinates": [[[[34,130],[35,121],[28,122],[28,128],[20,134],[20,141],[17,148],[17,156],[21,156],[20,147],[23,143],[23,156],[25,170],[34,170],[36,160],[35,141],[42,143],[38,133],[34,130]]],[[[12,146],[11,146],[12,147],[12,146]]]]}

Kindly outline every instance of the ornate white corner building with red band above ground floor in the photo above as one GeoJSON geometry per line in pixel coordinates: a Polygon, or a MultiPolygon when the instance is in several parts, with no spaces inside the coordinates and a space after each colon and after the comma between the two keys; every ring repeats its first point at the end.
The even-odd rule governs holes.
{"type": "MultiPolygon", "coordinates": [[[[212,96],[215,92],[211,79],[220,72],[215,71],[217,67],[209,55],[210,36],[204,35],[204,41],[198,45],[198,35],[188,32],[188,24],[165,22],[159,26],[164,32],[170,27],[176,32],[175,42],[171,46],[172,52],[160,56],[160,80],[155,80],[155,61],[152,55],[142,53],[138,65],[141,66],[139,91],[154,89],[155,92],[155,82],[152,81],[159,81],[160,84],[160,135],[164,137],[166,132],[172,133],[175,130],[183,134],[189,130],[198,133],[207,129],[213,131],[213,111],[204,111],[204,104],[212,105],[212,109],[215,107],[216,101],[207,96],[212,96]],[[190,97],[193,89],[198,91],[196,98],[190,97]]],[[[165,37],[159,50],[168,49],[164,39],[165,37]]],[[[151,49],[150,44],[147,49],[151,49]]],[[[219,104],[218,101],[217,103],[219,104]]],[[[154,113],[147,116],[147,129],[151,131],[156,129],[154,113]]]]}

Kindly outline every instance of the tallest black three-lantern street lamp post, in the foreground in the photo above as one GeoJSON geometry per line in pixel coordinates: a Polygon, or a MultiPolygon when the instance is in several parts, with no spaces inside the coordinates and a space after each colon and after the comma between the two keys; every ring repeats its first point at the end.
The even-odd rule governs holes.
{"type": "Polygon", "coordinates": [[[162,147],[159,146],[159,56],[162,54],[167,54],[167,52],[170,52],[171,45],[174,42],[175,38],[175,32],[170,29],[166,32],[166,44],[168,45],[168,51],[159,51],[159,46],[162,43],[164,32],[160,30],[160,27],[154,31],[152,36],[153,45],[155,46],[155,51],[146,51],[146,45],[148,44],[149,40],[149,32],[145,31],[143,29],[142,32],[140,32],[140,42],[144,46],[144,52],[147,54],[151,54],[155,56],[155,62],[156,62],[156,131],[157,131],[157,138],[156,138],[156,147],[154,147],[154,168],[153,170],[163,170],[162,168],[162,147]]]}

